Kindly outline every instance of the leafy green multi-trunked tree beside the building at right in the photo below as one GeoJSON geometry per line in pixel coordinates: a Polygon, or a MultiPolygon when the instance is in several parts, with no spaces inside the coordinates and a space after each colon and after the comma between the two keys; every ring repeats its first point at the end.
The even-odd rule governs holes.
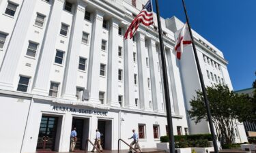
{"type": "MultiPolygon", "coordinates": [[[[251,112],[253,112],[251,99],[248,95],[238,95],[230,91],[228,86],[220,84],[207,87],[206,92],[218,139],[222,144],[233,143],[238,122],[251,118],[251,112]]],[[[208,120],[208,118],[203,94],[200,90],[197,90],[196,94],[196,97],[190,101],[191,109],[188,111],[188,115],[197,124],[201,120],[208,120]]]]}

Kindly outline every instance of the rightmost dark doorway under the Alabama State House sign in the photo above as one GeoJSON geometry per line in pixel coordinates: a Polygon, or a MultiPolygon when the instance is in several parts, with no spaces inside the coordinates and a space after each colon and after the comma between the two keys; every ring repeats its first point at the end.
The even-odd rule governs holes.
{"type": "Polygon", "coordinates": [[[102,149],[112,148],[112,120],[98,120],[98,130],[100,131],[100,143],[102,149]]]}

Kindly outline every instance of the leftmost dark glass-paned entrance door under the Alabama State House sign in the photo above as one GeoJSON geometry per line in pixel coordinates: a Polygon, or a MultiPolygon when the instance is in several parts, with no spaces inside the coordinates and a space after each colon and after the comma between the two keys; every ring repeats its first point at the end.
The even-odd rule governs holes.
{"type": "Polygon", "coordinates": [[[57,122],[57,117],[42,116],[38,135],[38,144],[36,146],[37,150],[54,150],[57,122]]]}

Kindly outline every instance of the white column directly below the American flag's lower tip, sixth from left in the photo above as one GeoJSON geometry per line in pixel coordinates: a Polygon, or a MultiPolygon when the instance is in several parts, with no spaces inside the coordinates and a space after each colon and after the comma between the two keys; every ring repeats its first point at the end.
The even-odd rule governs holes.
{"type": "Polygon", "coordinates": [[[124,40],[124,106],[137,108],[134,98],[134,62],[132,39],[124,40]]]}

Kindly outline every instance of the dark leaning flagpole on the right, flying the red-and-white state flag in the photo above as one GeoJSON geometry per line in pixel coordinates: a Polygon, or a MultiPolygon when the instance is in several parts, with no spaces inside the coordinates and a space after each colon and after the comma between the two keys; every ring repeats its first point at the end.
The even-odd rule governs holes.
{"type": "Polygon", "coordinates": [[[202,88],[202,91],[203,91],[203,99],[204,99],[204,103],[205,103],[205,107],[206,107],[208,122],[209,122],[209,125],[210,125],[210,131],[211,131],[211,134],[212,134],[214,152],[218,153],[218,146],[217,146],[216,136],[215,136],[215,132],[214,132],[214,126],[213,126],[213,123],[212,123],[212,116],[211,116],[210,107],[209,107],[209,103],[208,103],[208,98],[207,98],[207,94],[206,94],[206,90],[205,90],[205,84],[203,82],[202,71],[201,71],[200,63],[199,63],[198,56],[197,56],[197,50],[195,48],[194,37],[193,37],[193,33],[191,31],[191,28],[190,28],[190,24],[189,24],[189,20],[188,20],[188,14],[186,12],[186,5],[185,5],[184,0],[182,0],[182,3],[183,3],[183,7],[184,7],[184,12],[186,14],[186,22],[188,23],[188,30],[189,30],[190,37],[191,37],[191,40],[192,40],[193,51],[194,51],[194,54],[195,54],[195,61],[197,63],[197,70],[198,70],[198,74],[199,74],[201,88],[202,88]]]}

